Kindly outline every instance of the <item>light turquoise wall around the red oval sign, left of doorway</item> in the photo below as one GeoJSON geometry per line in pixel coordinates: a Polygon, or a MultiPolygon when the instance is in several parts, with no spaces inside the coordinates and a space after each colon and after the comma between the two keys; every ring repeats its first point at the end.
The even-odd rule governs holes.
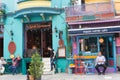
{"type": "Polygon", "coordinates": [[[4,25],[4,57],[6,59],[10,58],[10,52],[8,51],[9,42],[11,42],[10,31],[12,30],[13,41],[16,44],[15,56],[20,55],[22,57],[22,46],[23,46],[23,31],[22,23],[20,20],[14,19],[12,17],[7,17],[4,25]]]}

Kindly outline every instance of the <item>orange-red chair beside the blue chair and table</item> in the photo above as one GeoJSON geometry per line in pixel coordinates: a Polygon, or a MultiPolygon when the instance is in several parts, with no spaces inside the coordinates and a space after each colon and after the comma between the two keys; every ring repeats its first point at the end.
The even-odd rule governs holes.
{"type": "Polygon", "coordinates": [[[83,74],[84,73],[84,66],[81,60],[75,59],[75,74],[83,74]]]}

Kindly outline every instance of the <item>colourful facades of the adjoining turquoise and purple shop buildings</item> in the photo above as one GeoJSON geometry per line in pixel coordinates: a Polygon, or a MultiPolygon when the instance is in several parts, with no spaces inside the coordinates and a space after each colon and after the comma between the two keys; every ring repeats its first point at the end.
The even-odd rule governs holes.
{"type": "Polygon", "coordinates": [[[68,57],[80,53],[96,56],[102,51],[110,70],[119,66],[118,0],[2,0],[1,4],[0,56],[9,60],[19,55],[23,74],[34,46],[46,71],[50,70],[48,46],[57,52],[56,70],[62,72],[68,68],[68,57]]]}

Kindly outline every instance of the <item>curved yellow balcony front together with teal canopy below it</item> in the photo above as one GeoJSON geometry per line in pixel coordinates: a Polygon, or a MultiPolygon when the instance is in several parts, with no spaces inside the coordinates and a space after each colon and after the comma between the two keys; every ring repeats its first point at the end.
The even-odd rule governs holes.
{"type": "Polygon", "coordinates": [[[17,4],[14,18],[56,15],[63,12],[62,8],[51,7],[51,0],[19,0],[17,4]]]}

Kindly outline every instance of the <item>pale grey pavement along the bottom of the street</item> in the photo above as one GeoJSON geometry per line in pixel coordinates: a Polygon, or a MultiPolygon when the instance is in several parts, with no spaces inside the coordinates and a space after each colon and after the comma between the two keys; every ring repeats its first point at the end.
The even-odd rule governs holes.
{"type": "MultiPolygon", "coordinates": [[[[26,75],[0,75],[0,80],[26,80],[26,75]]],[[[107,73],[106,75],[75,75],[60,73],[55,75],[43,75],[42,80],[120,80],[120,73],[107,73]]]]}

